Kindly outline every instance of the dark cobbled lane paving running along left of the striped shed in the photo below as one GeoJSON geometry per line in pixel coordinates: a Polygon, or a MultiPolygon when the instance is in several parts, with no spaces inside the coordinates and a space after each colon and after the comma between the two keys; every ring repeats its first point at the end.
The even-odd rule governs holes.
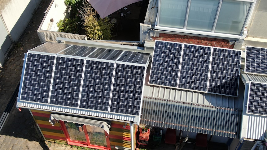
{"type": "MultiPolygon", "coordinates": [[[[11,50],[3,68],[0,68],[0,116],[2,116],[17,85],[20,83],[24,53],[41,45],[37,29],[51,0],[41,0],[28,26],[11,50]]],[[[38,136],[35,122],[28,109],[21,112],[15,108],[16,102],[0,132],[1,150],[42,150],[48,149],[38,136]]],[[[40,134],[39,134],[40,135],[40,134]]]]}

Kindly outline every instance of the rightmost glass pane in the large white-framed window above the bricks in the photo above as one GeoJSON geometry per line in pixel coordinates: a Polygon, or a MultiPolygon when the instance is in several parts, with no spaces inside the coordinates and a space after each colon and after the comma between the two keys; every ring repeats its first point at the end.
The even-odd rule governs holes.
{"type": "Polygon", "coordinates": [[[215,32],[240,35],[249,7],[250,2],[222,1],[215,32]]]}

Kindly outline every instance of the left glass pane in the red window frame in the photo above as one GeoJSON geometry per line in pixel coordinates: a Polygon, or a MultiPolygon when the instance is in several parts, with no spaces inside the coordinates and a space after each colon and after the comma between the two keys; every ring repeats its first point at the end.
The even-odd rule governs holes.
{"type": "Polygon", "coordinates": [[[82,129],[82,125],[75,124],[73,122],[66,122],[66,121],[64,123],[68,130],[68,134],[71,140],[86,142],[86,138],[85,138],[84,131],[82,129]]]}

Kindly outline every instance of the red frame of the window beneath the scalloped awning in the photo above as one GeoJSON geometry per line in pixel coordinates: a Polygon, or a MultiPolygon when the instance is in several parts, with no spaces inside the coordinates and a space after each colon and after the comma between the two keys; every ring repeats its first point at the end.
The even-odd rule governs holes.
{"type": "Polygon", "coordinates": [[[82,146],[82,147],[87,147],[87,148],[101,149],[101,150],[107,150],[107,149],[108,150],[111,150],[110,141],[109,141],[109,135],[107,134],[107,131],[105,131],[105,136],[107,137],[106,138],[107,147],[98,146],[98,145],[91,145],[90,144],[90,139],[89,139],[89,136],[87,134],[87,130],[86,130],[86,127],[85,126],[82,126],[82,127],[83,127],[83,131],[84,131],[85,138],[86,138],[87,142],[81,142],[81,141],[71,140],[70,139],[70,136],[68,134],[68,130],[67,130],[66,126],[65,126],[65,123],[63,121],[61,121],[61,120],[59,122],[60,122],[60,125],[62,126],[64,135],[66,136],[66,139],[67,139],[68,144],[70,144],[70,145],[76,145],[76,146],[82,146]]]}

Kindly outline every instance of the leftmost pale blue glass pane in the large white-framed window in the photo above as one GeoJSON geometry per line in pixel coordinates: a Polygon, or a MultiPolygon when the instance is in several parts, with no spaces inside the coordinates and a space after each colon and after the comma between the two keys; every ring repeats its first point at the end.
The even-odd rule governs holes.
{"type": "Polygon", "coordinates": [[[184,28],[187,0],[161,0],[159,26],[184,28]]]}

